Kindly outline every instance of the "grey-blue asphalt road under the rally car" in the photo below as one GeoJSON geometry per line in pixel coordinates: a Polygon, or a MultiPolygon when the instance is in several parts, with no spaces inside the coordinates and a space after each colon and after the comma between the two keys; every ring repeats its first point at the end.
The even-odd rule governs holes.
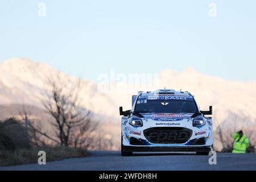
{"type": "Polygon", "coordinates": [[[0,170],[102,170],[102,171],[148,171],[148,170],[256,170],[256,154],[217,153],[217,165],[208,163],[210,156],[195,154],[134,154],[122,157],[119,151],[90,151],[92,155],[81,159],[48,162],[46,165],[0,167],[0,170]]]}

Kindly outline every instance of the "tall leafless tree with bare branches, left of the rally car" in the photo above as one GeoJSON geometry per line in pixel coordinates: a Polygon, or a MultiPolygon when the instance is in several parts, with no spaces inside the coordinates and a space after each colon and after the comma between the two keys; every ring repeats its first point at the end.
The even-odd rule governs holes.
{"type": "Polygon", "coordinates": [[[47,84],[49,90],[46,90],[46,97],[41,101],[46,112],[53,118],[51,126],[55,135],[31,127],[36,133],[61,146],[86,146],[90,133],[96,130],[97,122],[90,119],[90,112],[80,104],[80,80],[76,83],[67,77],[64,80],[59,73],[49,76],[47,84]]]}

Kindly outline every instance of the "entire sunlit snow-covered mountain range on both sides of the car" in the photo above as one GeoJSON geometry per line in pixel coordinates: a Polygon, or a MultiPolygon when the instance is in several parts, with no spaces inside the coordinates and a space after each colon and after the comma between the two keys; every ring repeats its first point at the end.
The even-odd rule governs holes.
{"type": "MultiPolygon", "coordinates": [[[[46,76],[56,73],[57,70],[47,64],[38,63],[28,59],[11,59],[0,64],[0,103],[26,104],[42,107],[39,97],[44,97],[48,85],[44,82],[46,76]]],[[[70,78],[72,82],[77,77],[61,73],[61,79],[70,78]]],[[[233,82],[219,77],[204,75],[195,69],[188,68],[184,72],[175,72],[166,69],[152,79],[147,89],[155,90],[155,83],[159,88],[182,89],[191,92],[200,105],[201,110],[214,107],[216,125],[228,118],[229,122],[248,121],[256,124],[256,82],[233,82]],[[155,81],[155,82],[154,82],[155,81]],[[235,119],[236,118],[236,119],[235,119]]],[[[98,90],[96,82],[82,79],[81,103],[91,110],[98,118],[108,116],[108,120],[120,122],[119,106],[124,109],[131,107],[131,94],[134,90],[142,90],[142,86],[129,85],[127,82],[115,83],[116,88],[129,88],[132,92],[102,93],[98,90]]],[[[136,92],[137,92],[136,91],[136,92]]]]}

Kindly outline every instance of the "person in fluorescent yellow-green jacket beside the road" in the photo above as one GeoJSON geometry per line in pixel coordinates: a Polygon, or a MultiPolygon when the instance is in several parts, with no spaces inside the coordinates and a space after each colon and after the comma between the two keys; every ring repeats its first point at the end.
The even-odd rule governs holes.
{"type": "Polygon", "coordinates": [[[246,149],[250,147],[250,141],[246,137],[245,134],[243,134],[243,131],[238,131],[233,134],[234,139],[234,150],[232,153],[246,153],[246,149]]]}

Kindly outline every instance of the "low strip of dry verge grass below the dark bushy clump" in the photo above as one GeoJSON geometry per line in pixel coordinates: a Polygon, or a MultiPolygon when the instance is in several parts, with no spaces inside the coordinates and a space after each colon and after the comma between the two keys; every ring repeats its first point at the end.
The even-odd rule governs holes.
{"type": "Polygon", "coordinates": [[[83,148],[60,146],[20,148],[15,151],[0,150],[0,166],[38,163],[39,151],[46,152],[46,162],[68,158],[83,158],[89,155],[83,148]]]}

